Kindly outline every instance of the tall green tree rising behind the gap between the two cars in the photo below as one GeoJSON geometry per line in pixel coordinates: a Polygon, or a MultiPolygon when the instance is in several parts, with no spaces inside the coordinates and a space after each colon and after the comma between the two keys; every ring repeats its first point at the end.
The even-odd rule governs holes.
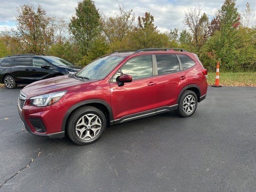
{"type": "Polygon", "coordinates": [[[71,17],[68,26],[74,40],[81,46],[82,56],[86,55],[88,48],[100,34],[100,14],[94,1],[78,2],[76,14],[71,17]]]}

